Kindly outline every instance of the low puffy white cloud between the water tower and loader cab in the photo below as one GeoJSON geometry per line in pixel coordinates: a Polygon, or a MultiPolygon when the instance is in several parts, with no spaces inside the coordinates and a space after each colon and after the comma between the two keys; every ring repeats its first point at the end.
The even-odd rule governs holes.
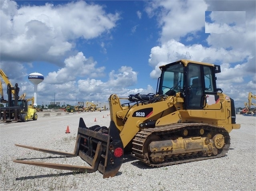
{"type": "MultiPolygon", "coordinates": [[[[109,73],[109,80],[105,82],[100,79],[90,78],[90,71],[97,70],[97,68],[87,70],[87,74],[85,74],[86,72],[83,69],[75,71],[78,65],[81,65],[80,68],[87,68],[87,61],[88,60],[82,53],[79,53],[76,57],[66,59],[66,63],[73,63],[73,65],[66,65],[65,68],[62,68],[57,72],[50,72],[44,78],[44,85],[47,84],[47,87],[44,86],[44,90],[42,91],[45,94],[52,94],[52,90],[54,90],[59,93],[59,98],[62,97],[63,99],[66,97],[66,95],[63,94],[64,92],[72,92],[70,98],[79,95],[80,98],[83,97],[85,100],[107,100],[109,95],[113,93],[125,96],[129,95],[129,92],[133,94],[139,92],[152,93],[148,92],[151,91],[152,87],[147,87],[147,90],[127,89],[127,87],[137,83],[137,72],[133,71],[131,67],[122,66],[118,71],[111,71],[109,73]],[[85,79],[79,79],[76,82],[75,77],[81,75],[81,73],[83,73],[83,78],[85,79]],[[65,83],[63,83],[64,81],[65,83]]],[[[103,71],[104,70],[102,70],[102,72],[103,71]]]]}

